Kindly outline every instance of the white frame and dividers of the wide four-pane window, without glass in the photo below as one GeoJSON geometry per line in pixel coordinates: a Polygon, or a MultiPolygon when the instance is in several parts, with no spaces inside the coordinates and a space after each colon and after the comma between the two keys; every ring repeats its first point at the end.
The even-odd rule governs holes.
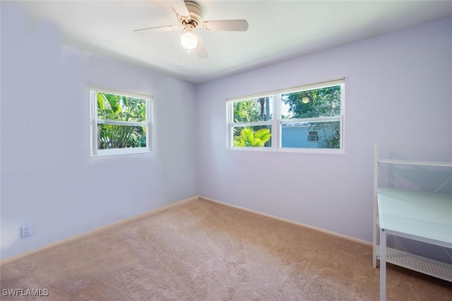
{"type": "Polygon", "coordinates": [[[331,81],[322,81],[307,85],[298,85],[292,88],[284,88],[264,93],[246,95],[239,98],[228,98],[226,100],[227,112],[227,148],[234,151],[279,151],[288,153],[326,153],[326,154],[345,154],[345,78],[337,78],[331,81]],[[300,119],[280,119],[281,118],[281,95],[286,93],[302,92],[305,90],[314,90],[317,88],[327,88],[333,85],[340,85],[340,114],[331,117],[312,117],[300,119]],[[271,96],[273,98],[272,119],[263,122],[234,122],[234,102],[263,98],[271,96]],[[339,148],[283,148],[282,147],[282,124],[302,123],[302,122],[329,122],[338,121],[340,123],[340,146],[339,148]],[[234,127],[237,126],[271,126],[271,146],[270,147],[237,147],[234,146],[234,127]]]}

